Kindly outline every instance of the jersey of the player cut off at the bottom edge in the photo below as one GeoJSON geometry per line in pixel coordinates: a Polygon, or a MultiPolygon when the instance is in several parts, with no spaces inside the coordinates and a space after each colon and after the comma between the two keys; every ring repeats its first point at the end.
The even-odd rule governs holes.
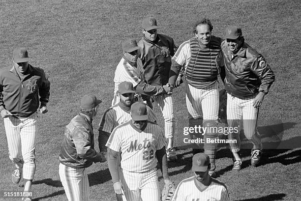
{"type": "Polygon", "coordinates": [[[217,179],[211,178],[211,184],[201,191],[195,184],[195,176],[180,182],[172,201],[230,201],[227,187],[217,179]]]}

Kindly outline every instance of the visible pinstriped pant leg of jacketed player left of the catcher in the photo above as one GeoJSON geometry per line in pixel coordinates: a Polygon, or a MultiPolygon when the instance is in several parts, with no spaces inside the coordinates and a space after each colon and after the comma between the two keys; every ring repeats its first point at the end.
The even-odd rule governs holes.
{"type": "Polygon", "coordinates": [[[173,96],[162,94],[160,96],[152,96],[152,98],[160,107],[160,110],[164,118],[165,138],[173,139],[175,135],[175,127],[176,127],[173,96]]]}

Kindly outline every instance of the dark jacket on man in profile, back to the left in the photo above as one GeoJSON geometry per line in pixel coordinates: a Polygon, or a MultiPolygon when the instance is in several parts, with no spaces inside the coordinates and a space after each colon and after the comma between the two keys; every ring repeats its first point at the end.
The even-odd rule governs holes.
{"type": "Polygon", "coordinates": [[[92,122],[87,115],[76,115],[66,126],[60,147],[60,163],[74,168],[87,168],[100,162],[101,155],[94,150],[92,122]]]}

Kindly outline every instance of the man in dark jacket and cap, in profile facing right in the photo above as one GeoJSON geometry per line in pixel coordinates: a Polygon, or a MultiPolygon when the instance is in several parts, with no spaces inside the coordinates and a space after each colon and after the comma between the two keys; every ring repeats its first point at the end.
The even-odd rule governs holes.
{"type": "Polygon", "coordinates": [[[97,115],[95,95],[82,97],[80,113],[66,126],[60,147],[60,181],[68,201],[89,201],[89,180],[86,168],[106,159],[94,150],[92,120],[97,115]]]}

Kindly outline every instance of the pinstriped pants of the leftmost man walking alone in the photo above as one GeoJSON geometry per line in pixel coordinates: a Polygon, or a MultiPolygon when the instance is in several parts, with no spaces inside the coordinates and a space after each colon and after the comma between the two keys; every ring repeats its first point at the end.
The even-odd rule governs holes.
{"type": "Polygon", "coordinates": [[[9,159],[14,163],[24,161],[23,178],[29,180],[33,179],[35,172],[35,137],[38,134],[36,119],[36,113],[28,117],[3,118],[9,159]]]}

